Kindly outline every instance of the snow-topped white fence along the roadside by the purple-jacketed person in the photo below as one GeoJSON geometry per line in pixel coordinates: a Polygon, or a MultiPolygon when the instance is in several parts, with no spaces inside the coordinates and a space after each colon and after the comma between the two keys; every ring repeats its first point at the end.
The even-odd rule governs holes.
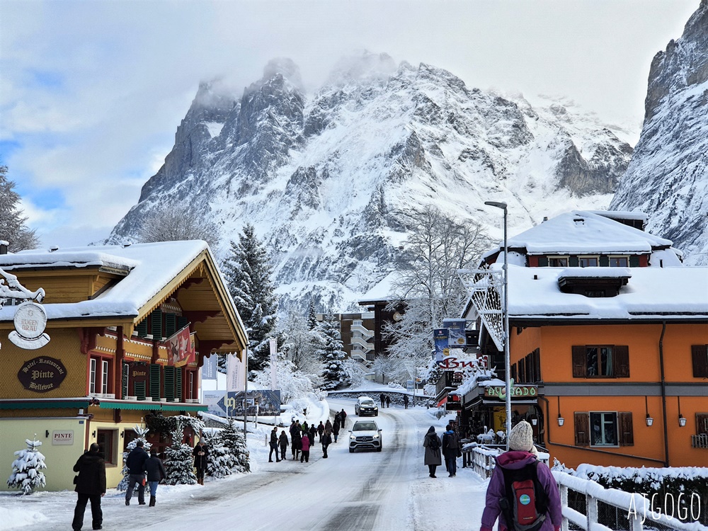
{"type": "MultiPolygon", "coordinates": [[[[483,478],[491,476],[496,466],[495,457],[503,451],[502,447],[487,447],[476,443],[464,445],[463,466],[471,466],[474,472],[483,478]]],[[[539,460],[548,464],[549,455],[539,452],[539,460]]],[[[573,523],[586,531],[612,531],[610,527],[598,523],[598,502],[606,503],[629,513],[629,530],[643,531],[656,529],[705,531],[708,528],[698,522],[684,523],[673,515],[654,512],[649,500],[637,493],[628,493],[617,489],[605,489],[602,485],[589,479],[581,479],[565,472],[553,472],[561,495],[563,523],[561,531],[569,531],[569,523],[573,523]],[[586,512],[583,514],[568,506],[568,493],[573,491],[585,496],[586,512]]],[[[702,509],[699,506],[699,510],[702,509]]],[[[704,509],[704,508],[703,508],[704,509]]],[[[691,515],[693,517],[694,515],[691,515]]],[[[697,516],[696,516],[697,519],[697,516]]]]}

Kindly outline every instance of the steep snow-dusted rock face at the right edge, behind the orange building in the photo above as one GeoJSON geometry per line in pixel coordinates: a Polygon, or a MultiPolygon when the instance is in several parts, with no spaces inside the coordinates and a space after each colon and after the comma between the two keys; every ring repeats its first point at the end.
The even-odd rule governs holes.
{"type": "Polygon", "coordinates": [[[708,264],[708,0],[651,62],[644,127],[611,207],[649,214],[685,263],[708,264]]]}

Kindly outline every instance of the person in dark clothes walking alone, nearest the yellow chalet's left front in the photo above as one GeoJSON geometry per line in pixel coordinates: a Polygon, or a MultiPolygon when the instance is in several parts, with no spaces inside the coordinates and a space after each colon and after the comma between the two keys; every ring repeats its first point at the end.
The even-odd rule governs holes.
{"type": "Polygon", "coordinates": [[[84,525],[86,503],[91,501],[91,527],[103,529],[103,511],[101,510],[101,497],[105,494],[105,462],[98,451],[96,442],[92,442],[89,451],[81,455],[74,464],[74,472],[79,475],[74,478],[76,483],[76,508],[74,508],[74,531],[81,531],[84,525]]]}

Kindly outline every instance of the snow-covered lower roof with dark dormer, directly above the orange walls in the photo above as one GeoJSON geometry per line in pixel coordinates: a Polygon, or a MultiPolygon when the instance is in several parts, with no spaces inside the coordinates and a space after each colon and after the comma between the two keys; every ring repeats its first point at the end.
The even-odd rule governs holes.
{"type": "MultiPolygon", "coordinates": [[[[500,265],[493,265],[495,268],[500,265]]],[[[618,268],[629,275],[616,297],[561,292],[563,275],[606,277],[614,268],[509,266],[510,319],[708,319],[708,268],[618,268]]]]}

